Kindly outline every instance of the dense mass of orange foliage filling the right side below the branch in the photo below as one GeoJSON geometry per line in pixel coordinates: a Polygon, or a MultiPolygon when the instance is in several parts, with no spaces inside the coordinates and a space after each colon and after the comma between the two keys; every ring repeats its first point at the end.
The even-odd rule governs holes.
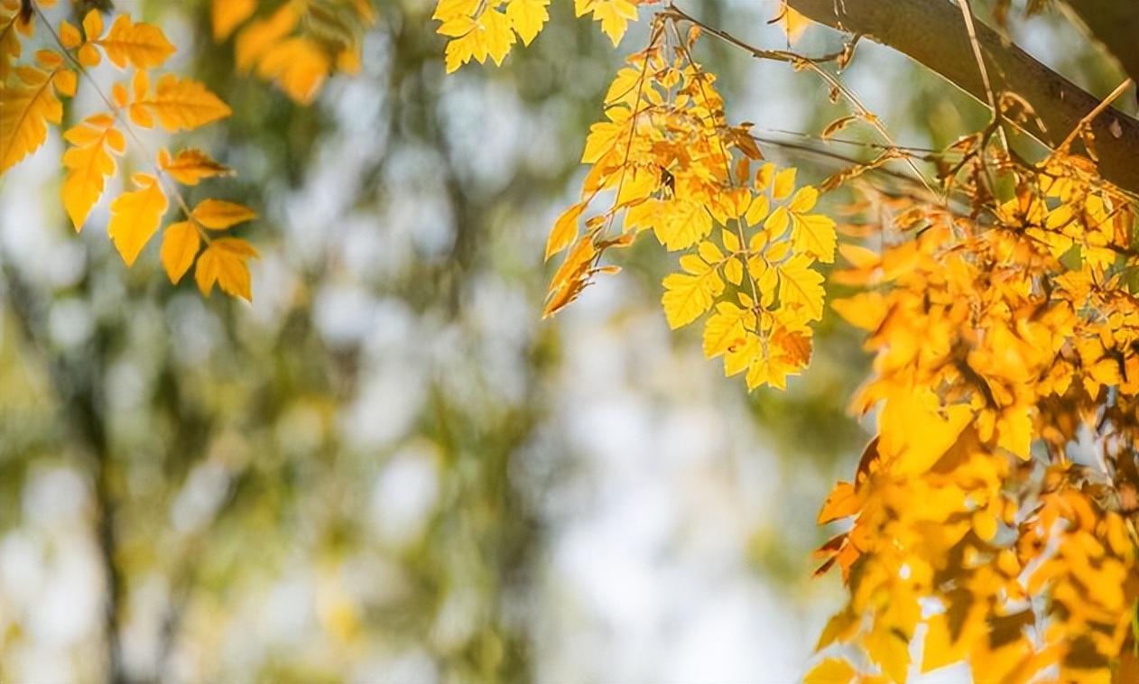
{"type": "Polygon", "coordinates": [[[947,179],[967,213],[884,200],[880,253],[842,250],[878,436],[819,517],[850,521],[820,552],[851,590],[819,646],[901,682],[925,625],[923,670],[1134,681],[1137,206],[1066,146],[1027,167],[978,141],[947,179]]]}

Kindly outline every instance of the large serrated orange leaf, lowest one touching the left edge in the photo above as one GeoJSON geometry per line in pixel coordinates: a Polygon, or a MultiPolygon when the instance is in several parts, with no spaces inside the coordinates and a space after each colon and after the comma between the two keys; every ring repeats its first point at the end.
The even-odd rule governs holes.
{"type": "Polygon", "coordinates": [[[48,124],[63,121],[56,97],[58,72],[17,66],[16,77],[0,83],[0,174],[34,153],[48,139],[48,124]]]}

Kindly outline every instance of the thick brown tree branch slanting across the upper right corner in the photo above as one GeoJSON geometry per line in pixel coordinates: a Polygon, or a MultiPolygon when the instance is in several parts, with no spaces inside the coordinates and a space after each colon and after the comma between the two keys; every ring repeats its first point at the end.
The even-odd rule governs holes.
{"type": "MultiPolygon", "coordinates": [[[[1081,1],[1091,6],[1101,0],[1081,1]]],[[[788,5],[820,24],[890,46],[986,104],[965,23],[949,0],[788,0],[788,5]]],[[[1007,44],[992,28],[978,23],[976,30],[995,86],[1023,97],[1046,130],[1032,122],[1017,125],[1043,145],[1055,148],[1099,105],[1098,98],[1007,44]]],[[[1100,141],[1099,173],[1139,192],[1139,121],[1109,108],[1095,117],[1091,129],[1100,141]]]]}

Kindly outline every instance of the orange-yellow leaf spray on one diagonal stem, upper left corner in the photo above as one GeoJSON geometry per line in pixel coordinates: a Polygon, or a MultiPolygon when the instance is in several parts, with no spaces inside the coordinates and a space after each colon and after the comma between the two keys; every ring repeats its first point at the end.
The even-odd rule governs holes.
{"type": "Polygon", "coordinates": [[[75,230],[82,230],[91,208],[118,174],[116,158],[128,151],[150,157],[148,172],[133,173],[133,190],[122,191],[110,203],[107,231],[126,265],[158,232],[173,198],[181,220],[163,230],[161,258],[171,282],[177,283],[192,267],[203,294],[216,283],[229,295],[249,299],[248,259],[257,255],[246,240],[221,231],[249,221],[256,214],[241,205],[202,199],[192,208],[179,186],[197,186],[206,179],[232,172],[206,153],[165,148],[150,154],[136,129],[155,126],[169,132],[191,131],[224,118],[230,108],[205,85],[172,73],[155,74],[174,53],[163,31],[118,14],[109,27],[97,9],[88,11],[79,26],[63,19],[47,25],[52,47],[34,53],[34,61],[16,61],[23,55],[22,39],[35,36],[38,23],[47,24],[43,9],[56,0],[21,3],[0,0],[0,173],[7,172],[48,139],[48,124],[63,123],[59,98],[74,98],[81,79],[103,105],[64,131],[68,147],[63,156],[66,168],[62,199],[75,230]],[[31,10],[31,11],[30,11],[31,10]],[[130,79],[115,81],[109,89],[92,69],[104,57],[117,69],[131,69],[130,79]]]}

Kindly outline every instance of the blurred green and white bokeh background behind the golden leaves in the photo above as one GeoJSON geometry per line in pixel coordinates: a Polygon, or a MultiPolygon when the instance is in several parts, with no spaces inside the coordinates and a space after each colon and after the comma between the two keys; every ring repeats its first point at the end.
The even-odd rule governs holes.
{"type": "MultiPolygon", "coordinates": [[[[765,23],[778,0],[679,3],[787,44],[765,23]]],[[[56,133],[0,180],[0,679],[805,671],[841,591],[811,578],[814,516],[867,439],[846,412],[869,368],[857,336],[828,314],[805,376],[747,394],[698,331],[667,329],[673,257],[650,238],[541,319],[547,230],[644,25],[614,50],[555,0],[502,67],[444,76],[434,3],[382,0],[362,72],[301,107],[235,73],[207,3],[116,5],[232,106],[188,142],[239,171],[211,190],[260,209],[262,258],[252,306],[171,287],[154,245],[125,269],[106,200],[69,230],[56,133]]],[[[1122,80],[1063,16],[1013,31],[1091,92],[1122,80]]],[[[813,28],[795,48],[841,41],[813,28]]],[[[710,40],[697,57],[801,179],[874,154],[795,134],[844,114],[810,74],[710,40]]],[[[844,81],[904,145],[988,118],[869,41],[844,81]]]]}

